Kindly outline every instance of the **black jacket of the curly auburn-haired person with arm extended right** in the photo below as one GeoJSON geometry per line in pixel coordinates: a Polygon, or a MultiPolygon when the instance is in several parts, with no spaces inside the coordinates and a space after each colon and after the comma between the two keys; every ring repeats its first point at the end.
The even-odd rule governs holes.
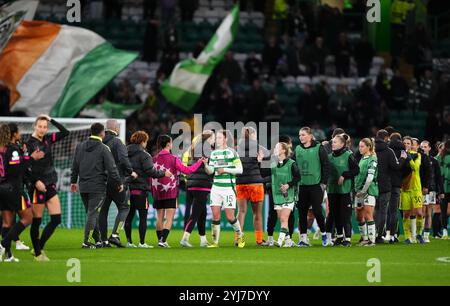
{"type": "Polygon", "coordinates": [[[158,178],[163,177],[165,172],[156,170],[153,167],[152,156],[144,150],[141,145],[131,144],[127,147],[128,157],[130,159],[131,166],[134,172],[138,175],[136,179],[131,179],[131,190],[149,190],[150,177],[158,178]]]}

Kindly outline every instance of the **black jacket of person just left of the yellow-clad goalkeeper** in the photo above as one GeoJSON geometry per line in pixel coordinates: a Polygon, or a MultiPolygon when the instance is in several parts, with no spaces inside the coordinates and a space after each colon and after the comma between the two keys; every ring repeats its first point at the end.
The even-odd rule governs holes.
{"type": "Polygon", "coordinates": [[[395,180],[393,177],[396,176],[396,172],[401,171],[405,159],[397,159],[394,150],[383,139],[375,139],[375,152],[378,159],[378,188],[380,193],[390,192],[395,180]]]}

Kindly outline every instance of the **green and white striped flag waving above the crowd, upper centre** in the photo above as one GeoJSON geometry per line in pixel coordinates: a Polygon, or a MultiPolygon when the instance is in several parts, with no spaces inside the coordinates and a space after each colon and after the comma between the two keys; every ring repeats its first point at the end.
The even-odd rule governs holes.
{"type": "Polygon", "coordinates": [[[172,104],[191,110],[200,98],[206,82],[236,39],[239,27],[239,2],[222,21],[202,53],[195,59],[179,62],[161,91],[172,104]]]}

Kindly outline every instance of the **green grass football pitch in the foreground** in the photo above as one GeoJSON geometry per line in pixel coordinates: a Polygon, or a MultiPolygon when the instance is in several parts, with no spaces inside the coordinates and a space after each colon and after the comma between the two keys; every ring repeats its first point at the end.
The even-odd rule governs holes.
{"type": "MultiPolygon", "coordinates": [[[[133,234],[138,241],[137,231],[133,234]]],[[[171,249],[83,250],[82,230],[59,229],[46,246],[50,262],[33,262],[29,251],[14,251],[20,262],[0,263],[0,285],[450,285],[450,240],[350,248],[323,248],[311,240],[311,248],[280,249],[257,247],[249,232],[247,246],[237,249],[234,234],[222,232],[220,248],[202,249],[194,232],[195,247],[182,249],[181,235],[171,232],[171,249]],[[79,260],[80,282],[68,281],[71,258],[79,260]],[[380,282],[369,282],[377,267],[380,282]]],[[[28,231],[22,238],[31,245],[27,236],[28,231]]],[[[149,231],[147,243],[155,245],[155,236],[149,231]]]]}

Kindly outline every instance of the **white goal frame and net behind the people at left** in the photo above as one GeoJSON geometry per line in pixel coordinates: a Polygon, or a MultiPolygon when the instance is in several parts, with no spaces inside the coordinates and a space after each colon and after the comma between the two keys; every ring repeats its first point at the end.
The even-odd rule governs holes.
{"type": "MultiPolygon", "coordinates": [[[[105,124],[107,119],[58,119],[56,121],[63,124],[69,131],[68,137],[55,143],[52,146],[52,154],[56,172],[58,173],[57,190],[61,201],[62,209],[62,227],[82,228],[86,221],[86,213],[79,193],[70,192],[70,175],[72,161],[76,146],[90,136],[90,127],[95,122],[105,124]]],[[[22,135],[22,141],[26,142],[33,132],[33,123],[35,118],[22,117],[0,117],[0,124],[16,123],[22,135]]],[[[125,143],[125,120],[118,120],[120,123],[120,137],[125,143]]],[[[49,125],[49,133],[56,132],[57,129],[49,125]]],[[[117,208],[111,205],[108,217],[108,225],[114,224],[114,218],[117,215],[117,208]]],[[[47,211],[44,214],[42,223],[46,224],[50,220],[47,211]]]]}

